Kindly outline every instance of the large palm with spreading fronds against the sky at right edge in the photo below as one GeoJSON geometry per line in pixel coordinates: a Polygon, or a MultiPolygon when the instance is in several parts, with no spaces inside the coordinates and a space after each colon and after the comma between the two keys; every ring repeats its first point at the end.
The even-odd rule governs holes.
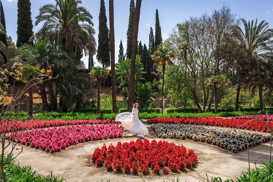
{"type": "MultiPolygon", "coordinates": [[[[235,38],[238,40],[240,45],[244,47],[247,59],[249,61],[249,65],[251,65],[252,69],[255,72],[258,70],[259,72],[266,72],[269,70],[269,74],[273,74],[272,72],[272,56],[273,56],[273,29],[269,28],[268,22],[262,20],[259,24],[257,23],[257,19],[254,22],[253,20],[246,21],[245,19],[241,19],[243,22],[243,28],[234,26],[233,34],[235,38]]],[[[250,74],[255,75],[255,73],[250,74]]],[[[250,80],[255,80],[253,77],[242,78],[241,80],[245,80],[246,83],[249,83],[250,80]]],[[[237,98],[239,98],[241,83],[238,83],[237,89],[237,98]]],[[[236,100],[236,106],[238,105],[238,99],[236,100]]],[[[260,100],[260,103],[263,101],[260,100]]],[[[260,104],[262,108],[263,104],[260,104]]]]}

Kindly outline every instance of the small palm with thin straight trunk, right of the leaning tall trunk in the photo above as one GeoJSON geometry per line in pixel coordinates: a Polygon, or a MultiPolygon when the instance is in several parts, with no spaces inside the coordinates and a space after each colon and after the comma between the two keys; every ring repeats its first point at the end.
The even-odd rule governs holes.
{"type": "Polygon", "coordinates": [[[164,75],[165,75],[165,68],[166,64],[173,66],[174,63],[172,62],[175,59],[175,56],[171,53],[171,49],[164,46],[162,43],[158,45],[157,50],[151,55],[151,58],[155,62],[155,66],[162,65],[162,106],[161,106],[161,113],[163,113],[163,91],[164,91],[164,75]]]}

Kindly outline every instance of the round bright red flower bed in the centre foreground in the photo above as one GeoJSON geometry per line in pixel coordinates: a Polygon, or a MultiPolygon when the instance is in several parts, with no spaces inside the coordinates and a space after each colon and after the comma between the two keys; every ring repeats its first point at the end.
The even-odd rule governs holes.
{"type": "Polygon", "coordinates": [[[132,174],[138,171],[148,174],[149,170],[153,170],[155,173],[162,171],[167,174],[169,170],[192,167],[197,162],[197,156],[193,150],[187,152],[183,145],[137,139],[123,144],[118,142],[116,147],[110,144],[107,148],[103,144],[102,148],[96,148],[91,160],[98,166],[105,164],[107,170],[123,170],[132,174]]]}

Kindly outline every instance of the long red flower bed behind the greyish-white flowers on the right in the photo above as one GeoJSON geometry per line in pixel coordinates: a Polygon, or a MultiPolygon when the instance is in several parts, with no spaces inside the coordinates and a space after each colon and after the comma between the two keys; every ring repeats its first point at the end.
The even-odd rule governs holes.
{"type": "MultiPolygon", "coordinates": [[[[193,118],[154,118],[147,120],[148,124],[156,123],[180,123],[180,124],[195,124],[195,125],[207,125],[207,126],[221,126],[221,127],[230,127],[236,128],[242,124],[248,122],[247,119],[235,119],[235,118],[220,118],[220,117],[193,117],[193,118]]],[[[269,122],[269,126],[273,127],[273,122],[269,122]]],[[[240,127],[241,129],[253,130],[253,131],[263,131],[269,132],[269,129],[266,128],[264,124],[260,121],[254,120],[244,126],[240,127]]]]}

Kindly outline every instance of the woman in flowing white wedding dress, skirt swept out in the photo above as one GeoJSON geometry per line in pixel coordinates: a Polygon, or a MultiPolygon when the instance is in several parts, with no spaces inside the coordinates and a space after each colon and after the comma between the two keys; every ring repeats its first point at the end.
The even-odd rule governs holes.
{"type": "Polygon", "coordinates": [[[148,135],[149,131],[147,127],[141,123],[138,118],[138,110],[139,107],[138,103],[134,104],[132,113],[120,113],[116,116],[116,121],[120,121],[120,123],[124,126],[126,130],[129,130],[132,135],[137,135],[139,137],[143,137],[148,135]]]}

